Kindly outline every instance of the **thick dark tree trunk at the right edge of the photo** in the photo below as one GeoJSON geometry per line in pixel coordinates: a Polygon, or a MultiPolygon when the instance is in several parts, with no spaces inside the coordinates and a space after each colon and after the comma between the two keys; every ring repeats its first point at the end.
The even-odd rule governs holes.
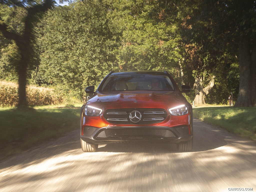
{"type": "Polygon", "coordinates": [[[246,36],[239,42],[240,78],[236,107],[256,106],[255,66],[256,44],[250,52],[250,39],[246,36]]]}

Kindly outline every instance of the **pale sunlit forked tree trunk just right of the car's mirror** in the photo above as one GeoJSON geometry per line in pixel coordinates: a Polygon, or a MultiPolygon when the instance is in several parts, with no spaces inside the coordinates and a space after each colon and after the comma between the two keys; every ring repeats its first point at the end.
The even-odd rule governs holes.
{"type": "Polygon", "coordinates": [[[214,86],[215,76],[212,76],[210,82],[208,83],[208,85],[205,88],[203,87],[202,81],[203,81],[202,77],[197,77],[195,80],[194,87],[193,87],[193,89],[196,90],[196,97],[195,97],[194,101],[195,101],[195,104],[197,104],[197,105],[205,104],[205,97],[206,97],[206,95],[209,94],[210,90],[214,86]]]}

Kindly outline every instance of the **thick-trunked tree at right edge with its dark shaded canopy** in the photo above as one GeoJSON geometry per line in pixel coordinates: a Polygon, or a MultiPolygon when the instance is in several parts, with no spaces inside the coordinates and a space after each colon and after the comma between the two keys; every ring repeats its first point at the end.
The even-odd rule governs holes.
{"type": "Polygon", "coordinates": [[[256,2],[254,0],[195,1],[190,24],[196,42],[238,56],[239,94],[235,106],[256,106],[256,2]],[[194,24],[193,24],[194,23],[194,24]],[[208,29],[200,31],[198,26],[208,29]]]}

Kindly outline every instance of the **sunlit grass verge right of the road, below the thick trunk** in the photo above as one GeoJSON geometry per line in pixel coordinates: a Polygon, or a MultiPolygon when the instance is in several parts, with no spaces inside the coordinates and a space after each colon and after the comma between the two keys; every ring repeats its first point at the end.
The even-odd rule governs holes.
{"type": "Polygon", "coordinates": [[[256,108],[201,107],[193,108],[195,118],[209,122],[247,139],[256,141],[256,108]]]}

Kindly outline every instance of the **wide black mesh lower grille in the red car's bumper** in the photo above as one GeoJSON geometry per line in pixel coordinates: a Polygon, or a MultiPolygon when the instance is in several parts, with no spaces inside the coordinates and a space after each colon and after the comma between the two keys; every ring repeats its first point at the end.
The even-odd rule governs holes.
{"type": "Polygon", "coordinates": [[[112,139],[118,140],[144,140],[144,138],[171,138],[175,137],[174,133],[169,129],[164,128],[107,128],[100,130],[95,138],[100,139],[112,139]]]}

